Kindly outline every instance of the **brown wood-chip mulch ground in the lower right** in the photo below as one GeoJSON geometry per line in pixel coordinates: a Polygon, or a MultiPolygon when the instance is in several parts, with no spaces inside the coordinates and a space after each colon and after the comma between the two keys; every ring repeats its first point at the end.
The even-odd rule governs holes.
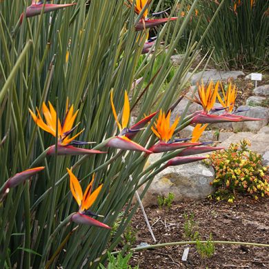
{"type": "MultiPolygon", "coordinates": [[[[170,209],[146,208],[157,243],[188,241],[184,232],[184,215],[193,215],[194,231],[201,240],[210,233],[216,241],[244,241],[269,244],[269,199],[240,197],[235,203],[225,201],[182,201],[170,209]]],[[[132,219],[137,232],[135,245],[154,243],[141,210],[132,219]]],[[[269,268],[269,248],[215,244],[210,258],[201,258],[195,245],[190,246],[187,261],[181,261],[187,246],[171,246],[134,252],[130,264],[139,268],[269,268]]]]}

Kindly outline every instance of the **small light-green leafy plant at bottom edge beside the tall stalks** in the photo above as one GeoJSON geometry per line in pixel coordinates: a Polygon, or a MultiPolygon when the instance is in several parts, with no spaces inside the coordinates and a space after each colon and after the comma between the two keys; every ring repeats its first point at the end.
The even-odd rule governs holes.
{"type": "Polygon", "coordinates": [[[126,257],[122,257],[121,253],[119,253],[117,257],[114,257],[108,252],[108,265],[103,266],[103,264],[100,264],[98,269],[139,269],[139,266],[132,267],[128,265],[131,257],[132,253],[129,253],[126,257]]]}

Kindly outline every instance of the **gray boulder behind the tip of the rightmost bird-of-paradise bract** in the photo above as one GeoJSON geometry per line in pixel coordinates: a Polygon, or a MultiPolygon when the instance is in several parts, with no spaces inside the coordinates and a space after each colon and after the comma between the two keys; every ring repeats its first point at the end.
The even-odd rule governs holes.
{"type": "MultiPolygon", "coordinates": [[[[245,110],[250,107],[241,106],[239,110],[245,110]]],[[[261,106],[256,106],[250,108],[249,110],[237,113],[246,117],[259,118],[261,121],[241,121],[233,122],[232,130],[234,132],[258,132],[263,126],[266,126],[269,122],[269,108],[262,108],[261,106]]]]}

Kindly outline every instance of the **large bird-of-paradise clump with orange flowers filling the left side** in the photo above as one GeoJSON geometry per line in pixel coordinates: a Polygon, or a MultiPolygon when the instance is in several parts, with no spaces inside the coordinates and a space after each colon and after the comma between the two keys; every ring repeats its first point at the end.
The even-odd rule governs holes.
{"type": "MultiPolygon", "coordinates": [[[[15,188],[15,191],[10,189],[0,203],[0,268],[14,268],[18,264],[21,268],[97,268],[106,259],[107,252],[118,246],[135,215],[138,205],[131,207],[131,201],[139,186],[144,187],[143,198],[159,170],[195,161],[194,156],[179,156],[187,149],[179,148],[161,153],[158,161],[145,167],[150,147],[155,143],[169,146],[171,141],[172,144],[181,142],[173,138],[176,130],[194,117],[190,115],[187,120],[184,114],[180,115],[181,122],[175,124],[178,126],[171,141],[167,141],[166,135],[163,137],[163,132],[164,141],[157,141],[151,130],[159,119],[157,113],[161,110],[163,119],[163,111],[169,111],[173,100],[188,84],[186,74],[199,53],[194,39],[190,40],[182,63],[175,68],[173,79],[166,85],[163,81],[172,68],[170,57],[198,0],[193,1],[185,17],[179,16],[179,10],[173,30],[169,23],[156,27],[155,52],[151,56],[146,54],[146,60],[140,63],[139,34],[132,27],[134,14],[123,0],[83,0],[73,8],[57,9],[50,14],[44,12],[48,6],[42,5],[39,8],[42,7],[43,12],[39,16],[23,17],[17,34],[12,35],[31,2],[0,3],[0,186],[9,182],[8,188],[15,188]],[[159,57],[163,61],[157,61],[159,57]],[[154,68],[159,71],[153,72],[154,68]],[[137,79],[141,79],[141,83],[134,86],[137,79]],[[165,97],[160,94],[163,87],[165,97]],[[111,92],[114,109],[110,103],[111,92]],[[132,97],[130,101],[128,96],[132,97]],[[72,106],[66,106],[68,97],[72,106]],[[128,103],[130,113],[137,117],[129,128],[128,103]],[[117,114],[120,110],[121,122],[117,114]],[[115,119],[121,127],[118,133],[115,119]],[[80,122],[83,132],[75,133],[75,122],[80,122]],[[76,142],[78,135],[83,141],[95,141],[94,148],[82,148],[84,146],[76,142]],[[134,148],[130,149],[131,146],[134,148]],[[108,153],[92,154],[97,153],[92,150],[103,148],[108,153]],[[37,163],[40,164],[37,166],[37,163]],[[29,182],[20,175],[14,176],[18,171],[37,167],[44,167],[38,180],[29,182]],[[80,206],[78,212],[70,195],[67,167],[72,167],[72,174],[81,179],[81,186],[93,173],[96,175],[92,185],[86,188],[84,199],[77,181],[72,179],[74,197],[80,206]],[[11,180],[12,177],[16,180],[11,180]],[[90,192],[90,188],[94,191],[90,192]],[[97,192],[98,199],[94,199],[97,192]],[[103,223],[100,221],[97,226],[103,228],[92,227],[97,219],[87,215],[89,208],[102,213],[103,223]],[[111,236],[107,226],[112,227],[120,214],[123,214],[121,223],[111,236]]],[[[177,2],[172,10],[176,10],[177,2]]],[[[150,22],[144,19],[145,23],[150,22]]],[[[167,116],[165,114],[163,122],[168,122],[167,116]]],[[[164,126],[170,135],[172,125],[164,126]]],[[[199,142],[189,143],[194,146],[199,142]]]]}

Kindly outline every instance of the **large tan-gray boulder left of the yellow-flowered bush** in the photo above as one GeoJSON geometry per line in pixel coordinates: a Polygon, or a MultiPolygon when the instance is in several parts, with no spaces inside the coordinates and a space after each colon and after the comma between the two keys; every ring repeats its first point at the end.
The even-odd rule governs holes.
{"type": "MultiPolygon", "coordinates": [[[[150,156],[156,160],[157,155],[150,156]]],[[[214,189],[210,182],[215,178],[213,168],[208,168],[201,162],[189,163],[182,166],[168,167],[153,179],[148,192],[143,197],[143,205],[157,204],[158,195],[175,195],[175,201],[183,199],[203,199],[212,194],[214,189]]],[[[142,190],[139,190],[141,193],[142,190]]]]}

